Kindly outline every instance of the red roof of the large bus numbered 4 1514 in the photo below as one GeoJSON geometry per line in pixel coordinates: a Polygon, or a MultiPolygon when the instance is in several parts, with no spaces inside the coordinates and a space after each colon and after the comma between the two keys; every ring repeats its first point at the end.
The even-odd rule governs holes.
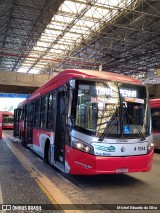
{"type": "Polygon", "coordinates": [[[143,83],[137,79],[129,76],[120,75],[112,72],[95,71],[95,70],[79,70],[79,69],[68,69],[60,72],[58,75],[54,76],[52,79],[47,81],[44,85],[38,88],[28,99],[20,103],[20,106],[33,100],[43,94],[46,94],[53,89],[56,89],[71,79],[103,79],[109,81],[117,81],[122,83],[132,83],[143,85],[143,83]]]}

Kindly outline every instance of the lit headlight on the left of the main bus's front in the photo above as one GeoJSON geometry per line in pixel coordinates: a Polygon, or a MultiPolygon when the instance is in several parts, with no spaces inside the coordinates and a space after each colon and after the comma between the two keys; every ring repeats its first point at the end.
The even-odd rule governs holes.
{"type": "Polygon", "coordinates": [[[81,150],[83,152],[86,152],[86,153],[90,153],[90,154],[94,153],[93,146],[91,146],[83,141],[80,141],[80,140],[72,141],[72,147],[74,147],[75,149],[81,150]]]}

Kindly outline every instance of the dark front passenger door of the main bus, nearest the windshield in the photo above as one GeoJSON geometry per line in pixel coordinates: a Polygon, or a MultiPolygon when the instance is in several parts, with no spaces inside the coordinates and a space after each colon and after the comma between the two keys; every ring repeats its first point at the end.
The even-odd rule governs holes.
{"type": "Polygon", "coordinates": [[[63,163],[65,155],[65,126],[66,126],[66,102],[65,92],[59,92],[57,97],[57,117],[55,131],[54,160],[63,163]]]}

